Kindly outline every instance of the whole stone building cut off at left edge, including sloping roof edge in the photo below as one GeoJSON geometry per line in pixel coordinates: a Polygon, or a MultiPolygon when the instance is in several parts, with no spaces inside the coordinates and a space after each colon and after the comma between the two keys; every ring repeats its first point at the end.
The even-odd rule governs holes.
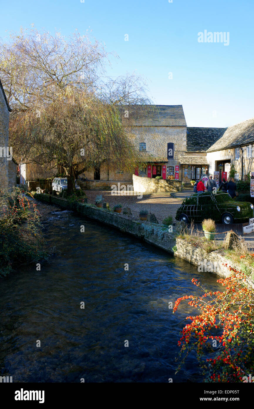
{"type": "Polygon", "coordinates": [[[0,80],[0,188],[13,189],[16,186],[17,164],[9,146],[9,112],[7,101],[0,80]]]}

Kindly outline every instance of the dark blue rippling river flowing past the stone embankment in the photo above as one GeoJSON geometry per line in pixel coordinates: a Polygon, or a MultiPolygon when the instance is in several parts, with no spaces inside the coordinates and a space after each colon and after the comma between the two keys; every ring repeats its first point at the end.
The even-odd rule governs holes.
{"type": "Polygon", "coordinates": [[[41,271],[20,267],[0,279],[0,374],[13,382],[200,382],[194,355],[175,375],[179,332],[193,310],[186,301],[172,314],[169,302],[196,294],[193,277],[209,290],[217,278],[105,225],[38,208],[58,253],[41,271]]]}

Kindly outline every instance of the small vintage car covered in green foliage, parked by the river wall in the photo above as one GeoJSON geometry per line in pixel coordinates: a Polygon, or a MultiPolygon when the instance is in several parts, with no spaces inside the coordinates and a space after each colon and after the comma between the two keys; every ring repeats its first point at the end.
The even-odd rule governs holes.
{"type": "Polygon", "coordinates": [[[211,218],[217,223],[244,223],[253,217],[253,205],[237,202],[225,192],[205,192],[185,198],[176,212],[176,220],[185,223],[211,218]]]}

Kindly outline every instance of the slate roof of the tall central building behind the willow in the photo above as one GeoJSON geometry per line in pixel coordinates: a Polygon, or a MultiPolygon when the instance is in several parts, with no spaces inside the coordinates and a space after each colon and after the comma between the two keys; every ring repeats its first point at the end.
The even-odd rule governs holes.
{"type": "Polygon", "coordinates": [[[134,126],[186,126],[182,105],[132,105],[129,111],[134,126]]]}

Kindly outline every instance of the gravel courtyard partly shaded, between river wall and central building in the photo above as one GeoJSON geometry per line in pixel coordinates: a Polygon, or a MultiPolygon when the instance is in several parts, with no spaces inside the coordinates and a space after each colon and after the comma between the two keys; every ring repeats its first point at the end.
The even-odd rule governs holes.
{"type": "Polygon", "coordinates": [[[110,207],[120,203],[123,207],[129,207],[133,216],[138,218],[141,209],[147,209],[149,213],[154,213],[159,223],[167,216],[175,215],[178,207],[183,199],[172,198],[170,193],[143,193],[143,197],[139,196],[112,196],[109,190],[86,190],[87,202],[95,203],[95,198],[102,195],[103,202],[108,202],[110,207]],[[136,213],[135,213],[136,212],[136,213]]]}

